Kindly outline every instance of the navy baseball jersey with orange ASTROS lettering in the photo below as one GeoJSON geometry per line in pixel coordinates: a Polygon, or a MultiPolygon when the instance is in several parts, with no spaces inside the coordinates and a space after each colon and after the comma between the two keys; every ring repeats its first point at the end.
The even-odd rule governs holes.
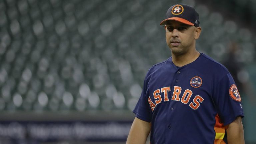
{"type": "Polygon", "coordinates": [[[172,57],[151,67],[136,117],[151,123],[151,144],[225,144],[225,125],[244,117],[228,70],[205,54],[182,67],[172,57]]]}

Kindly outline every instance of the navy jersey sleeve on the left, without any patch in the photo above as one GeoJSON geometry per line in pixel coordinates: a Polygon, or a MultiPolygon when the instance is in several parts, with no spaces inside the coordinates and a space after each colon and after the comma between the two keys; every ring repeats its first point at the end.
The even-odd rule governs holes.
{"type": "Polygon", "coordinates": [[[144,85],[143,85],[143,89],[139,98],[139,101],[137,102],[133,113],[135,114],[135,116],[141,120],[150,122],[151,118],[150,118],[150,107],[149,107],[149,103],[148,103],[148,99],[147,99],[147,77],[144,80],[144,85]]]}

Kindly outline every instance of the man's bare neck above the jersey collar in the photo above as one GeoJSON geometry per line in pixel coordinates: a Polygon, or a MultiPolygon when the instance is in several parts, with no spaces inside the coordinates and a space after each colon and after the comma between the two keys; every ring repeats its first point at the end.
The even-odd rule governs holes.
{"type": "Polygon", "coordinates": [[[199,55],[200,53],[196,50],[178,56],[172,53],[172,62],[175,66],[182,67],[194,62],[199,57],[199,55]]]}

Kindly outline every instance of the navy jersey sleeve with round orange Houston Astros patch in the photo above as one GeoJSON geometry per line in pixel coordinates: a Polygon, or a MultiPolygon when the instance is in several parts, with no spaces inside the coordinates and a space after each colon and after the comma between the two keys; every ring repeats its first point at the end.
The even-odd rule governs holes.
{"type": "Polygon", "coordinates": [[[230,73],[224,75],[215,84],[213,99],[224,125],[233,122],[236,117],[244,117],[241,97],[230,73]]]}

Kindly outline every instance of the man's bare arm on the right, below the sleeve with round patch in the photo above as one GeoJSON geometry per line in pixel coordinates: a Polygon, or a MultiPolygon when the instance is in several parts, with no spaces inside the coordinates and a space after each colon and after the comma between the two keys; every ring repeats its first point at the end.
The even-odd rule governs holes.
{"type": "Polygon", "coordinates": [[[226,126],[228,144],[244,144],[244,128],[242,118],[237,117],[232,123],[226,126]]]}

